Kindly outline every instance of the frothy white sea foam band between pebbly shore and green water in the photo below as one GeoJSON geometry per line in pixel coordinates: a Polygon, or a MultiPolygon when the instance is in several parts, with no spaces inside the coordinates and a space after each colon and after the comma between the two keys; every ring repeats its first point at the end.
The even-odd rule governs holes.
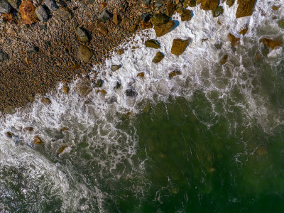
{"type": "MultiPolygon", "coordinates": [[[[257,1],[253,16],[238,19],[235,18],[236,4],[231,8],[222,4],[224,15],[218,18],[212,18],[211,11],[202,11],[197,6],[191,8],[194,14],[191,21],[182,22],[175,14],[173,20],[177,21],[178,26],[161,38],[155,37],[153,29],[137,33],[132,44],[121,45],[120,48],[126,49],[123,55],[113,53],[104,65],[94,67],[97,77],[104,80],[100,89],[106,90],[107,94],[97,93],[98,88],[94,88],[86,98],[82,98],[74,92],[75,86],[72,84],[70,94],[66,95],[60,92],[62,84],[59,84],[58,92],[46,94],[52,101],[49,106],[42,104],[40,97],[36,97],[28,109],[18,110],[16,114],[1,119],[1,167],[27,168],[33,165],[34,169],[28,170],[27,178],[35,180],[40,175],[48,176],[53,183],[50,190],[57,191],[62,197],[63,211],[70,206],[80,206],[84,210],[84,205],[79,204],[78,200],[92,196],[97,197],[95,202],[98,210],[102,210],[102,202],[107,196],[100,189],[102,183],[98,181],[97,185],[87,187],[86,182],[81,182],[75,189],[70,185],[75,185],[80,168],[89,166],[97,171],[94,179],[105,179],[104,183],[117,182],[125,175],[131,178],[143,173],[143,167],[139,166],[143,165],[143,161],[136,165],[132,160],[138,142],[136,129],[128,126],[129,134],[117,128],[117,125],[121,124],[123,114],[137,114],[147,102],[166,102],[170,96],[185,97],[191,101],[195,98],[195,92],[202,92],[212,104],[209,119],[200,118],[207,126],[214,124],[218,116],[226,117],[232,110],[231,104],[241,109],[247,121],[244,124],[249,125],[250,120],[256,119],[266,131],[282,124],[280,112],[264,101],[268,99],[266,92],[255,92],[256,87],[259,87],[255,82],[260,82],[258,75],[263,71],[256,70],[255,64],[247,61],[253,58],[255,52],[261,53],[263,44],[258,40],[262,36],[283,36],[283,30],[280,30],[276,21],[271,21],[273,14],[278,19],[283,18],[283,7],[277,12],[271,9],[273,4],[280,5],[281,2],[257,1]],[[266,16],[262,16],[259,9],[266,11],[266,16]],[[248,33],[239,35],[239,30],[245,26],[249,27],[248,33]],[[241,43],[236,49],[231,48],[228,33],[241,37],[241,43]],[[147,38],[157,39],[161,48],[146,48],[143,40],[147,38]],[[170,53],[174,38],[190,39],[190,45],[180,56],[170,53]],[[207,40],[202,42],[202,39],[207,40]],[[222,43],[222,49],[214,48],[215,43],[222,43]],[[155,65],[152,59],[158,51],[164,53],[165,58],[155,65]],[[228,62],[221,66],[219,60],[223,55],[228,55],[228,62]],[[122,67],[112,72],[113,64],[122,67]],[[168,75],[173,70],[180,70],[182,75],[170,79],[168,75]],[[144,72],[145,77],[137,77],[139,72],[144,72]],[[116,82],[121,82],[121,89],[114,89],[116,82]],[[126,96],[125,90],[129,87],[136,89],[136,98],[126,96]],[[239,96],[235,94],[236,91],[239,96]],[[109,104],[109,100],[114,97],[116,102],[109,104]],[[86,100],[89,104],[84,103],[86,100]],[[26,126],[33,126],[34,131],[23,130],[26,126]],[[69,131],[61,133],[63,126],[69,131]],[[7,131],[14,134],[13,138],[6,137],[7,131]],[[33,145],[34,136],[43,138],[45,151],[33,145]],[[16,144],[27,145],[35,150],[16,144]],[[64,145],[68,148],[58,155],[59,148],[64,145]],[[81,159],[82,147],[84,158],[88,160],[78,165],[76,160],[81,159]],[[116,173],[116,168],[122,163],[126,167],[122,173],[116,173]],[[106,178],[109,174],[111,178],[106,178]]],[[[283,60],[283,48],[273,50],[263,60],[277,65],[283,60]]],[[[198,111],[195,114],[199,118],[198,111]]]]}

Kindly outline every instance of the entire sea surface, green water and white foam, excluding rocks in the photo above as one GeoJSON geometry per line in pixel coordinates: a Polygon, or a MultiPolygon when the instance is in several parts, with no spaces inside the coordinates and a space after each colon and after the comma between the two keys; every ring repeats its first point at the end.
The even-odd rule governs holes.
{"type": "Polygon", "coordinates": [[[2,118],[0,212],[284,212],[284,51],[261,43],[283,40],[284,4],[259,0],[238,19],[236,4],[222,6],[218,18],[200,6],[191,21],[175,13],[175,29],[157,38],[158,65],[143,45],[154,31],[138,33],[94,66],[102,88],[82,98],[76,82],[67,95],[59,84],[52,104],[36,97],[2,118]],[[174,38],[190,39],[180,56],[174,38]]]}

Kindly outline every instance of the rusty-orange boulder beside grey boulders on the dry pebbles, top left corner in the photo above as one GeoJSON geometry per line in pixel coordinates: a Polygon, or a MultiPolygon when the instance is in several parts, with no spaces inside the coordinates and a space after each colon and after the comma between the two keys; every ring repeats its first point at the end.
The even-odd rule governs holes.
{"type": "Polygon", "coordinates": [[[35,14],[35,6],[33,6],[33,2],[22,1],[19,9],[22,17],[22,23],[32,24],[38,21],[38,18],[35,14]]]}

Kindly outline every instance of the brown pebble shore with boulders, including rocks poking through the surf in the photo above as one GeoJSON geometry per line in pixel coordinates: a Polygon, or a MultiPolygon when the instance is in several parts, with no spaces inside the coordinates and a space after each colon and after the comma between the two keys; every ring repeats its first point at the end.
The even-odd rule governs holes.
{"type": "MultiPolygon", "coordinates": [[[[228,6],[239,4],[236,18],[251,16],[254,3],[255,0],[226,0],[228,6]]],[[[190,21],[188,7],[197,4],[212,11],[214,17],[224,11],[218,0],[0,0],[0,111],[13,114],[16,107],[25,107],[33,102],[35,94],[44,95],[59,82],[65,84],[62,92],[67,93],[67,84],[87,75],[92,65],[104,62],[111,50],[133,33],[153,27],[157,37],[163,36],[175,26],[170,20],[175,11],[182,21],[190,21]]],[[[278,10],[278,6],[273,5],[273,10],[278,10]]],[[[239,33],[245,35],[246,31],[248,28],[239,33]]],[[[240,40],[231,33],[228,39],[233,46],[240,40]]],[[[172,53],[180,55],[188,43],[190,40],[173,40],[172,53]]],[[[263,38],[263,43],[273,50],[282,45],[282,40],[263,38]]],[[[156,40],[147,40],[145,45],[159,48],[156,40]]],[[[153,62],[158,63],[163,57],[158,52],[153,62]]],[[[226,55],[220,63],[226,63],[226,55]]],[[[113,72],[119,68],[111,67],[113,72]]],[[[173,72],[170,77],[180,74],[173,72]]],[[[99,80],[93,81],[84,84],[84,88],[77,87],[77,92],[84,96],[89,87],[100,87],[99,80]]],[[[135,92],[126,94],[132,96],[135,92]]],[[[50,100],[43,97],[42,102],[49,104],[50,100]]]]}

